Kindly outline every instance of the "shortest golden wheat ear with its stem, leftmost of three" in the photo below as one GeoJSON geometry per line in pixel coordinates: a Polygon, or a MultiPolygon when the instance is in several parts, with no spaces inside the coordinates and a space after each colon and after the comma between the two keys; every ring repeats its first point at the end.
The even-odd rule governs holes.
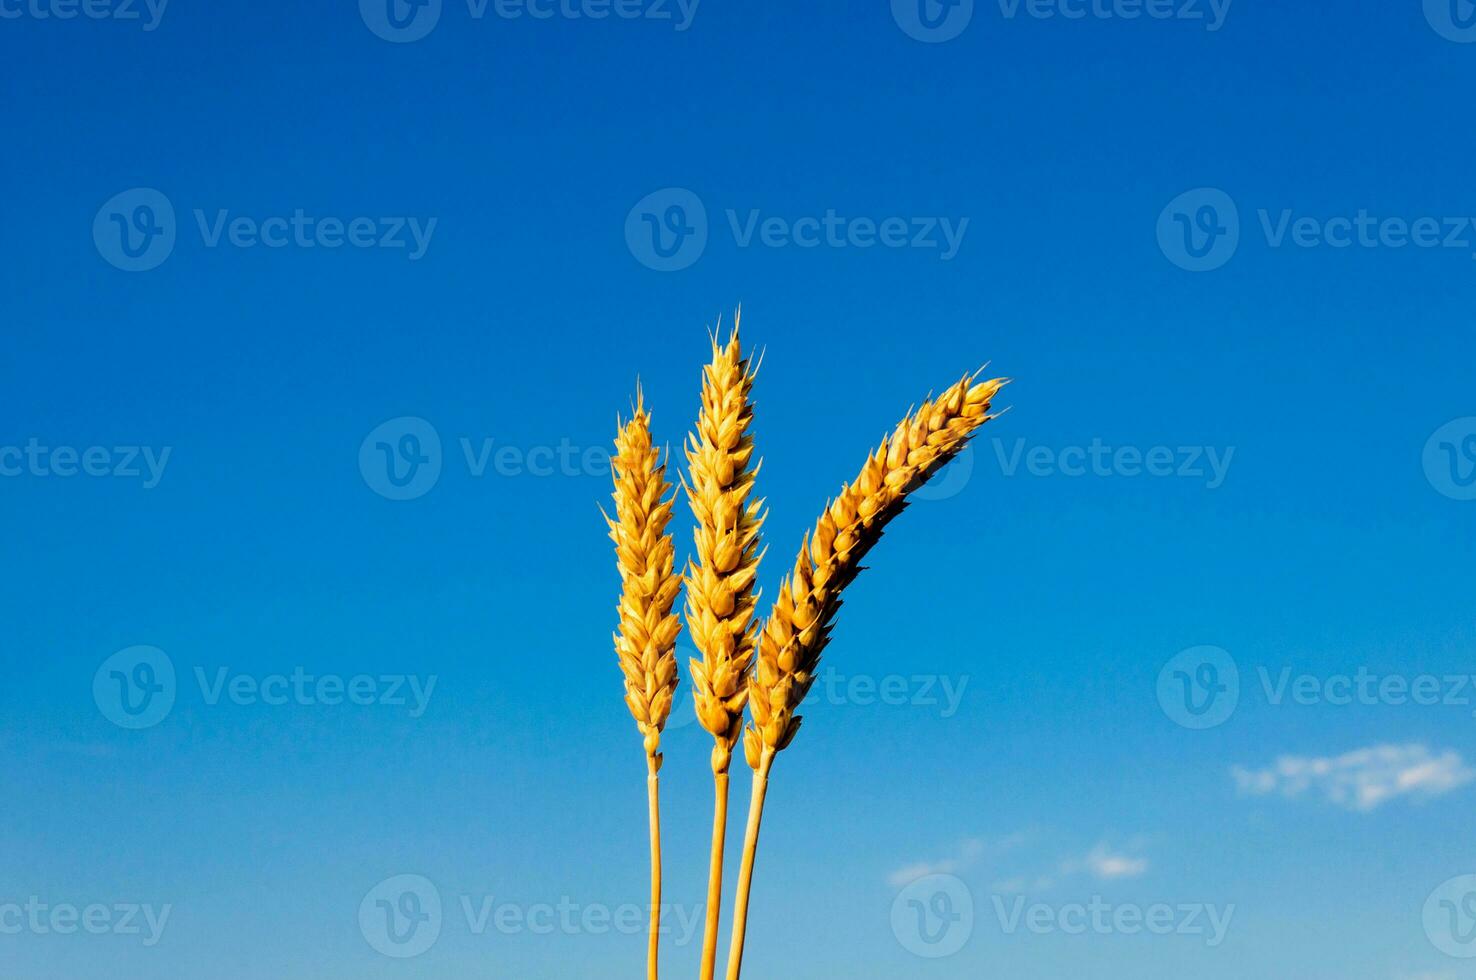
{"type": "MultiPolygon", "coordinates": [[[[615,517],[605,515],[620,568],[620,629],[615,654],[626,677],[626,705],[645,736],[646,800],[651,821],[651,936],[648,980],[657,980],[661,927],[661,729],[676,692],[676,635],[672,612],[682,577],[673,571],[675,549],[666,525],[672,520],[666,465],[651,446],[651,415],[636,393],[635,413],[620,425],[611,459],[615,517]]],[[[675,496],[675,494],[673,494],[675,496]]]]}

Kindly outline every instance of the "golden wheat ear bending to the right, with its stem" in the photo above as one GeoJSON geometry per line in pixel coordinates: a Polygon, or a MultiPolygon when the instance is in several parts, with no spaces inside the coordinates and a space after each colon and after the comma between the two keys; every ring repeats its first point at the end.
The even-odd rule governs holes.
{"type": "Polygon", "coordinates": [[[911,412],[866,459],[861,475],[830,502],[815,530],[804,536],[794,571],[759,638],[759,655],[748,682],[753,723],[744,731],[744,756],[753,766],[753,798],[744,834],[738,896],[734,903],[728,980],[742,970],[748,891],[763,822],[769,770],[778,753],[800,731],[796,711],[815,682],[821,651],[830,641],[841,590],[861,571],[861,559],[881,539],[887,521],[906,506],[908,494],[925,483],[987,422],[989,403],[1004,379],[976,382],[965,376],[937,398],[911,412]]]}

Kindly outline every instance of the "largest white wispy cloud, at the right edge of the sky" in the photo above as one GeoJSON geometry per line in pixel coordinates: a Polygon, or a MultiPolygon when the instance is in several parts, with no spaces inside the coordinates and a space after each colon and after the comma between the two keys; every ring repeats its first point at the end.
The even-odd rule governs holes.
{"type": "Polygon", "coordinates": [[[1281,756],[1266,769],[1232,766],[1231,775],[1246,796],[1299,797],[1312,791],[1359,812],[1399,797],[1444,796],[1476,779],[1460,753],[1436,754],[1418,744],[1371,745],[1342,756],[1281,756]]]}

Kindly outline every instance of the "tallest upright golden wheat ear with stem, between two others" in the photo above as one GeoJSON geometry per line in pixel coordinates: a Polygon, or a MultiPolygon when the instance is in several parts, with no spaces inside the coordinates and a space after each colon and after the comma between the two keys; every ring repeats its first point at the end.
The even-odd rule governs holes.
{"type": "Polygon", "coordinates": [[[692,660],[697,719],[713,735],[713,844],[707,868],[707,925],[701,980],[713,980],[728,834],[728,767],[742,734],[759,623],[753,583],[759,573],[763,502],[750,500],[759,466],[753,459],[750,390],[753,369],[738,341],[738,317],[726,344],[713,338],[703,370],[703,407],[688,437],[686,499],[697,518],[695,558],[686,568],[686,629],[701,660],[692,660]]]}

